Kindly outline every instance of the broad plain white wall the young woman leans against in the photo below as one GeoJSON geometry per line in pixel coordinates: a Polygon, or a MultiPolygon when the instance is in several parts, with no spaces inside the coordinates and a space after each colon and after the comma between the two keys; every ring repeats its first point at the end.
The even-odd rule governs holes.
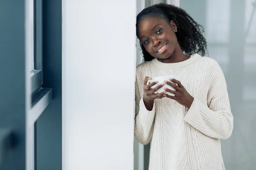
{"type": "Polygon", "coordinates": [[[132,170],[136,0],[63,0],[63,169],[132,170]]]}

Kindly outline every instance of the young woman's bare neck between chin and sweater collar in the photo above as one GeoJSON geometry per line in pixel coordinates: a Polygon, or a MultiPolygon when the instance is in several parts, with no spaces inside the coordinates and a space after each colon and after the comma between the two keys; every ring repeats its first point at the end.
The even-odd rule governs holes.
{"type": "Polygon", "coordinates": [[[167,59],[161,59],[161,62],[164,63],[174,63],[174,62],[182,62],[189,59],[190,56],[185,55],[180,48],[180,45],[177,45],[177,48],[173,51],[172,55],[167,59]]]}

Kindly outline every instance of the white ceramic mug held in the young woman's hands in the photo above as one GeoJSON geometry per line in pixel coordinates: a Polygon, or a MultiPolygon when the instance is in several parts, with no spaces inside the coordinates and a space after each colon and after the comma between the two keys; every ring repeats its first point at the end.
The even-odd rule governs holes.
{"type": "MultiPolygon", "coordinates": [[[[175,91],[175,89],[174,89],[172,86],[169,86],[169,85],[167,85],[167,84],[165,83],[165,81],[171,82],[170,79],[176,79],[176,76],[175,76],[175,75],[167,75],[167,76],[154,77],[153,79],[148,80],[147,85],[148,85],[149,83],[151,83],[151,82],[157,81],[157,84],[152,87],[152,88],[155,88],[155,87],[157,87],[158,85],[164,83],[164,86],[157,90],[157,92],[156,92],[157,94],[158,94],[158,93],[162,93],[162,92],[164,91],[164,88],[169,88],[169,89],[175,91]]],[[[171,83],[173,83],[173,82],[171,82],[171,83]]],[[[169,92],[167,92],[166,94],[168,94],[168,95],[170,95],[170,96],[174,96],[173,94],[171,94],[171,93],[169,93],[169,92]]]]}

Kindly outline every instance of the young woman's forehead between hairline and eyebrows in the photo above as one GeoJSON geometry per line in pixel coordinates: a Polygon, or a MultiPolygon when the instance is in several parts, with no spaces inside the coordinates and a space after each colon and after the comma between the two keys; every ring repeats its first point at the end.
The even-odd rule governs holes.
{"type": "Polygon", "coordinates": [[[140,21],[140,24],[137,30],[138,37],[154,32],[154,27],[157,25],[165,26],[165,25],[168,25],[168,23],[166,22],[166,20],[159,17],[144,18],[143,20],[140,21]]]}

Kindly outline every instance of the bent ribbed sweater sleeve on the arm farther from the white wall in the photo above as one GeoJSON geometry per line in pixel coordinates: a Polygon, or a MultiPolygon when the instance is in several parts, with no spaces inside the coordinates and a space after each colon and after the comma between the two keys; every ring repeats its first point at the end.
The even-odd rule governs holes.
{"type": "Polygon", "coordinates": [[[212,67],[211,73],[207,96],[209,104],[205,105],[194,98],[184,120],[209,137],[227,139],[233,131],[233,115],[230,110],[227,85],[217,62],[212,67]]]}

